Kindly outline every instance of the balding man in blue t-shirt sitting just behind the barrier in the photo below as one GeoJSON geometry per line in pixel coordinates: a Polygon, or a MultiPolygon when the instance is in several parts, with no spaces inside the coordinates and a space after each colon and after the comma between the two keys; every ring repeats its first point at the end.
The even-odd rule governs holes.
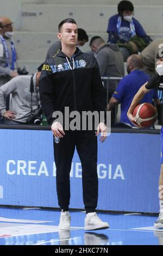
{"type": "MultiPolygon", "coordinates": [[[[130,57],[128,57],[128,75],[124,76],[120,83],[118,83],[118,86],[114,94],[112,95],[108,105],[108,110],[111,111],[113,107],[118,105],[118,103],[121,103],[120,123],[114,126],[134,126],[133,123],[131,123],[131,121],[128,119],[127,112],[137,91],[140,89],[142,84],[145,84],[150,78],[147,74],[145,74],[145,72],[142,71],[142,66],[142,58],[139,55],[132,54],[130,57]]],[[[156,105],[160,105],[158,93],[154,89],[146,94],[145,97],[143,97],[141,103],[152,103],[153,99],[156,105]]]]}

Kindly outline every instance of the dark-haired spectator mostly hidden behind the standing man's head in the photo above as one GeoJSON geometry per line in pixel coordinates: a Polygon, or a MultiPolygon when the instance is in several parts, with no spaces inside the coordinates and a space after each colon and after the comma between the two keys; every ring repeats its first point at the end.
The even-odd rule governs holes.
{"type": "MultiPolygon", "coordinates": [[[[88,35],[83,28],[78,28],[78,48],[82,50],[82,46],[88,41],[88,35]]],[[[61,49],[61,42],[57,41],[49,48],[46,59],[52,58],[52,56],[61,49]]]]}

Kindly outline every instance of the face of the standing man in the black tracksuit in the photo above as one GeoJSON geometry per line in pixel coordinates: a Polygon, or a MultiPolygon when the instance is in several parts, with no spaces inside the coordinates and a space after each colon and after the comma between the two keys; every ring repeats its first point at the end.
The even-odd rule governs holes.
{"type": "Polygon", "coordinates": [[[78,28],[74,23],[64,23],[61,31],[58,33],[58,38],[62,44],[67,46],[76,46],[78,40],[78,28]]]}

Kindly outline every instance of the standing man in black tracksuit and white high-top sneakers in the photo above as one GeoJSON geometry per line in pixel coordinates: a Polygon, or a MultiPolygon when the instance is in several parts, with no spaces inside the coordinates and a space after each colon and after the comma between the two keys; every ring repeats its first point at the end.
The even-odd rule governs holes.
{"type": "MultiPolygon", "coordinates": [[[[82,163],[85,229],[109,228],[108,223],[103,222],[95,212],[98,199],[95,130],[65,130],[65,124],[53,118],[55,111],[60,111],[65,117],[65,107],[69,108],[70,113],[104,111],[105,99],[101,76],[96,59],[76,47],[78,40],[76,21],[73,19],[61,21],[58,38],[61,40],[62,50],[43,65],[39,88],[41,105],[48,123],[52,125],[54,135],[57,194],[61,209],[59,229],[70,230],[70,170],[75,147],[82,163]]],[[[104,123],[99,123],[97,136],[99,132],[101,132],[100,141],[104,142],[106,139],[104,123]]]]}

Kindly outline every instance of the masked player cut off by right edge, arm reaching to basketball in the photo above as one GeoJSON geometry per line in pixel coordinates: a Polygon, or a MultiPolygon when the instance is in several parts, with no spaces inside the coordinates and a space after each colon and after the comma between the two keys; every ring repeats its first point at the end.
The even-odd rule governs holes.
{"type": "MultiPolygon", "coordinates": [[[[131,105],[128,109],[128,118],[130,121],[135,124],[135,118],[133,117],[134,108],[139,104],[142,100],[143,96],[148,93],[151,89],[163,90],[163,57],[157,54],[158,62],[156,63],[156,72],[157,74],[154,75],[147,83],[143,84],[143,86],[139,89],[136,93],[131,105]]],[[[160,170],[160,178],[159,178],[159,202],[160,202],[160,214],[158,220],[154,223],[154,227],[156,228],[163,228],[163,127],[161,127],[161,170],[160,170]]]]}

